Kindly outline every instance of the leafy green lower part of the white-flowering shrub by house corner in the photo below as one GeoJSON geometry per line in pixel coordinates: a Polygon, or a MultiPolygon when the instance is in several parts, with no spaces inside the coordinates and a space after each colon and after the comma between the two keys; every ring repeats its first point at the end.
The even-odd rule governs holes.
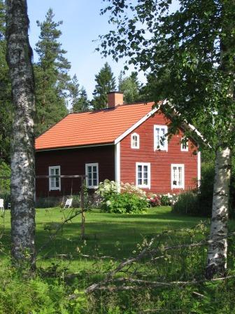
{"type": "Polygon", "coordinates": [[[102,203],[101,208],[106,212],[116,214],[134,214],[144,212],[148,207],[146,198],[140,198],[130,193],[115,193],[102,203]]]}

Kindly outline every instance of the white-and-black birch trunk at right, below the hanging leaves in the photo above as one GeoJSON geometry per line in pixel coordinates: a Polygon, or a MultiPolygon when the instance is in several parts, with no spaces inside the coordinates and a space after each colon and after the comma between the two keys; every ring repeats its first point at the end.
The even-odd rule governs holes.
{"type": "Polygon", "coordinates": [[[215,182],[211,218],[211,242],[208,246],[206,278],[225,275],[227,268],[227,223],[229,217],[229,184],[231,179],[231,149],[218,148],[215,160],[215,182]],[[220,237],[220,240],[216,238],[220,237]],[[224,238],[222,238],[224,237],[224,238]]]}

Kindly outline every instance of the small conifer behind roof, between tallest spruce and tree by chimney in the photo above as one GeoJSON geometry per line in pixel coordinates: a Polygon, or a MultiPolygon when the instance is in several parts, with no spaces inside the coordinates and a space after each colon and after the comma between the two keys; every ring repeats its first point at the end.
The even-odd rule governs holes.
{"type": "Polygon", "coordinates": [[[90,102],[87,97],[87,92],[82,86],[79,88],[78,78],[73,76],[70,87],[71,107],[73,112],[84,112],[90,110],[90,102]]]}

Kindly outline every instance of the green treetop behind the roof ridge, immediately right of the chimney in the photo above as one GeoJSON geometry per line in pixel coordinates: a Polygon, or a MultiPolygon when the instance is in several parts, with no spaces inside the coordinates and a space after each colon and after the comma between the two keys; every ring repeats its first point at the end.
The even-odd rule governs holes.
{"type": "Polygon", "coordinates": [[[124,77],[123,71],[121,71],[119,76],[119,90],[123,92],[124,102],[138,102],[140,100],[139,89],[137,73],[131,72],[130,76],[124,77]]]}

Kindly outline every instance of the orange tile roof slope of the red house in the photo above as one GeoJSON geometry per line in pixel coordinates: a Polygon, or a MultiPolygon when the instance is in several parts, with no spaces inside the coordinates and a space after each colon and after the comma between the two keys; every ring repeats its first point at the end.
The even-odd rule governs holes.
{"type": "Polygon", "coordinates": [[[36,138],[36,150],[112,143],[148,114],[153,104],[123,104],[112,109],[69,114],[36,138]]]}

